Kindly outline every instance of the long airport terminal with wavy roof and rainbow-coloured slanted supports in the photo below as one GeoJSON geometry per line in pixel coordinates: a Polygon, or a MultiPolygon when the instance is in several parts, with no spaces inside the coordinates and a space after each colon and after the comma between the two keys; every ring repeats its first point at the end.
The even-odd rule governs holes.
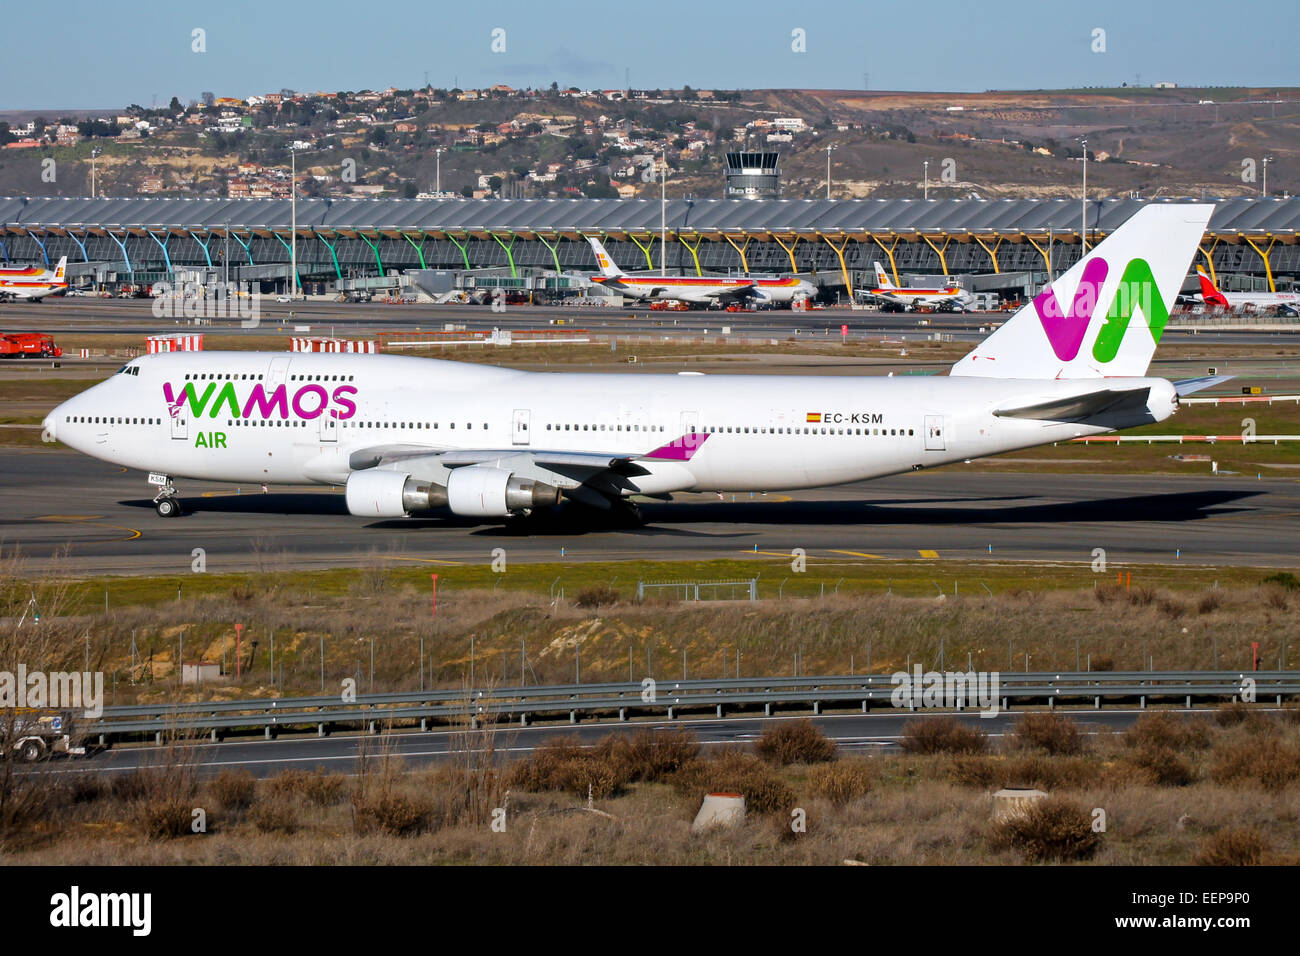
{"type": "MultiPolygon", "coordinates": [[[[597,271],[585,237],[628,271],[801,273],[827,290],[874,261],[1031,291],[1147,200],[1106,199],[75,199],[0,198],[0,260],[69,258],[73,281],[114,287],[178,272],[287,286],[291,248],[316,291],[464,284],[563,294],[597,271]],[[291,222],[296,222],[292,226],[291,222]],[[296,242],[291,238],[296,234],[296,242]]],[[[1158,200],[1157,200],[1158,202],[1158,200]]],[[[1197,261],[1226,285],[1300,278],[1300,199],[1219,200],[1197,261]]],[[[450,286],[448,286],[450,287],[450,286]]]]}

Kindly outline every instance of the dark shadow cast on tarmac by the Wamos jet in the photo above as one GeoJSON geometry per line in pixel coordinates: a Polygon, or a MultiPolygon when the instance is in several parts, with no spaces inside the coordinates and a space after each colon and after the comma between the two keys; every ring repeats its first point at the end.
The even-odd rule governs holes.
{"type": "MultiPolygon", "coordinates": [[[[1249,512],[1245,499],[1261,492],[1210,489],[1138,494],[1087,501],[1041,502],[1028,496],[994,498],[875,498],[826,501],[705,501],[647,503],[641,506],[642,525],[611,520],[606,512],[564,506],[541,511],[504,524],[484,524],[471,518],[436,514],[428,518],[380,520],[369,528],[415,531],[420,528],[476,528],[474,533],[499,537],[526,537],[619,532],[630,535],[705,535],[681,525],[953,525],[953,524],[1123,524],[1131,522],[1197,522],[1238,512],[1249,512]],[[1024,503],[1017,503],[1024,502],[1024,503]],[[675,527],[664,527],[675,525],[675,527]]],[[[122,501],[126,507],[148,507],[148,499],[122,501]]],[[[183,499],[187,512],[212,515],[347,515],[338,494],[270,493],[183,499]]],[[[182,519],[185,520],[185,519],[182,519]]],[[[722,532],[723,536],[727,532],[722,532]]]]}

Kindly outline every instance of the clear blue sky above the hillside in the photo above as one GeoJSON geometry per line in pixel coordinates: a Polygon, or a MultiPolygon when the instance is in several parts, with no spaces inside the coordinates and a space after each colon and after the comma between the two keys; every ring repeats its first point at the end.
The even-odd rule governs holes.
{"type": "Polygon", "coordinates": [[[872,90],[1300,82],[1296,0],[65,0],[12,4],[4,22],[0,109],[412,87],[426,73],[463,87],[621,87],[625,69],[650,88],[862,88],[864,73],[872,90]],[[207,52],[191,51],[195,29],[207,52]]]}

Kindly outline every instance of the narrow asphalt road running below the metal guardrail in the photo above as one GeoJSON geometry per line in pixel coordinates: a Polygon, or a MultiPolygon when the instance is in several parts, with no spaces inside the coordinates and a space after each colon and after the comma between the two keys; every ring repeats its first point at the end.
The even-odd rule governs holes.
{"type": "MultiPolygon", "coordinates": [[[[1086,735],[1118,734],[1132,724],[1141,710],[1114,708],[1113,710],[1062,710],[1079,723],[1086,735]]],[[[1176,713],[1193,713],[1178,710],[1176,713]]],[[[1202,709],[1195,713],[1210,713],[1202,709]]],[[[566,736],[576,743],[590,745],[610,734],[634,732],[645,727],[689,727],[705,747],[749,745],[758,739],[764,724],[780,721],[802,719],[805,715],[789,717],[732,717],[718,719],[684,721],[637,721],[628,723],[588,722],[572,726],[568,723],[542,723],[530,727],[517,724],[498,724],[491,731],[434,730],[430,732],[407,731],[384,735],[382,743],[391,745],[391,753],[400,757],[407,767],[446,761],[467,750],[482,750],[491,745],[506,760],[525,757],[537,747],[555,736],[566,736]]],[[[872,714],[824,714],[810,718],[823,734],[835,740],[841,753],[879,753],[897,748],[904,726],[913,719],[933,719],[937,711],[911,714],[905,710],[884,710],[872,714]]],[[[978,714],[961,714],[958,719],[991,736],[1002,736],[1014,730],[1017,711],[1001,713],[983,718],[978,714]]],[[[330,773],[351,774],[356,769],[356,757],[361,741],[369,744],[373,754],[380,745],[378,737],[364,737],[355,732],[339,732],[329,737],[285,736],[276,740],[230,740],[222,744],[203,744],[198,749],[198,765],[207,773],[218,773],[228,767],[246,767],[257,777],[270,777],[285,770],[315,770],[324,767],[330,773]]],[[[42,763],[38,773],[84,773],[84,771],[125,771],[139,766],[157,766],[174,758],[166,748],[152,745],[120,745],[109,750],[92,753],[86,758],[56,758],[42,763]]]]}

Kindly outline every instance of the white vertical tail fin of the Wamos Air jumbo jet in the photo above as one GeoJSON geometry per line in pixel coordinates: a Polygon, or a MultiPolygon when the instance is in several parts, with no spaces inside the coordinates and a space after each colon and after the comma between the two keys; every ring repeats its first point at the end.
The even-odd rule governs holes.
{"type": "Polygon", "coordinates": [[[1145,375],[1213,212],[1210,203],[1144,206],[975,346],[952,375],[1145,375]]]}

